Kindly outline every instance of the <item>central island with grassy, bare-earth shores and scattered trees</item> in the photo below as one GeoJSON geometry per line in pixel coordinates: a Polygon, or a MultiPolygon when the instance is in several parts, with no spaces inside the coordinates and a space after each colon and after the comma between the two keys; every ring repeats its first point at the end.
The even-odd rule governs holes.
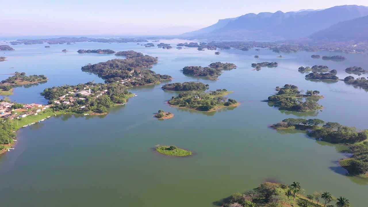
{"type": "Polygon", "coordinates": [[[171,97],[168,103],[172,106],[185,107],[199,111],[215,111],[229,106],[238,106],[234,99],[227,99],[224,96],[230,91],[217,89],[208,93],[200,91],[181,92],[177,97],[171,97]]]}

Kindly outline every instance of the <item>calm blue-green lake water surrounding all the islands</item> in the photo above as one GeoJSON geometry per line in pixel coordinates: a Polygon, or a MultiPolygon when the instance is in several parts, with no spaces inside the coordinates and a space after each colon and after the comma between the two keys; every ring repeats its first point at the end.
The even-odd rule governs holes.
{"type": "MultiPolygon", "coordinates": [[[[164,40],[173,49],[145,48],[136,43],[93,43],[72,45],[15,45],[15,51],[1,51],[1,74],[14,71],[45,74],[47,83],[18,87],[9,98],[22,103],[47,103],[39,95],[47,87],[103,82],[81,71],[87,63],[115,58],[114,55],[78,54],[78,49],[135,50],[159,58],[156,73],[173,76],[175,82],[201,81],[210,90],[234,91],[229,98],[237,108],[213,113],[173,108],[165,84],[131,88],[137,97],[110,109],[106,116],[63,115],[52,117],[17,132],[15,150],[0,156],[1,206],[214,206],[216,201],[236,192],[250,190],[265,180],[298,181],[306,193],[330,191],[344,196],[352,206],[364,207],[368,180],[344,175],[337,161],[348,156],[341,145],[308,138],[304,133],[281,133],[268,126],[287,117],[319,118],[358,129],[367,127],[368,93],[343,81],[337,83],[305,80],[300,66],[327,65],[337,76],[344,69],[368,69],[367,54],[343,54],[343,62],[311,59],[312,54],[278,54],[268,49],[198,51],[177,50],[180,40],[164,40]],[[61,50],[69,52],[63,53],[61,50]],[[4,54],[5,53],[5,54],[4,54]],[[253,56],[259,55],[259,59],[253,56]],[[282,58],[277,56],[282,55],[282,58]],[[185,76],[184,66],[208,66],[212,62],[235,63],[237,69],[224,71],[219,80],[185,76]],[[278,62],[276,68],[252,70],[251,63],[278,62]],[[14,68],[11,68],[14,67],[14,68]],[[325,98],[322,110],[295,113],[277,110],[261,102],[275,93],[276,86],[297,85],[300,90],[319,90],[325,98]],[[157,120],[162,109],[173,119],[157,120]],[[186,158],[156,153],[155,145],[176,145],[191,150],[186,158]]],[[[189,41],[187,41],[189,42],[189,41]]],[[[1,75],[1,80],[8,75],[1,75]]],[[[363,74],[363,76],[367,76],[363,74]]],[[[358,76],[355,76],[358,77],[358,76]]],[[[167,82],[169,83],[169,82],[167,82]]]]}

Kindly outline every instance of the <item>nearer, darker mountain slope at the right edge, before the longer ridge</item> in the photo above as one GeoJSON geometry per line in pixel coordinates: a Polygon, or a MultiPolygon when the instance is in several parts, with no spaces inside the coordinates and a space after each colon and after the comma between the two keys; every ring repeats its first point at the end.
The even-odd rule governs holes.
{"type": "Polygon", "coordinates": [[[368,16],[339,22],[310,36],[315,41],[368,41],[368,16]]]}

